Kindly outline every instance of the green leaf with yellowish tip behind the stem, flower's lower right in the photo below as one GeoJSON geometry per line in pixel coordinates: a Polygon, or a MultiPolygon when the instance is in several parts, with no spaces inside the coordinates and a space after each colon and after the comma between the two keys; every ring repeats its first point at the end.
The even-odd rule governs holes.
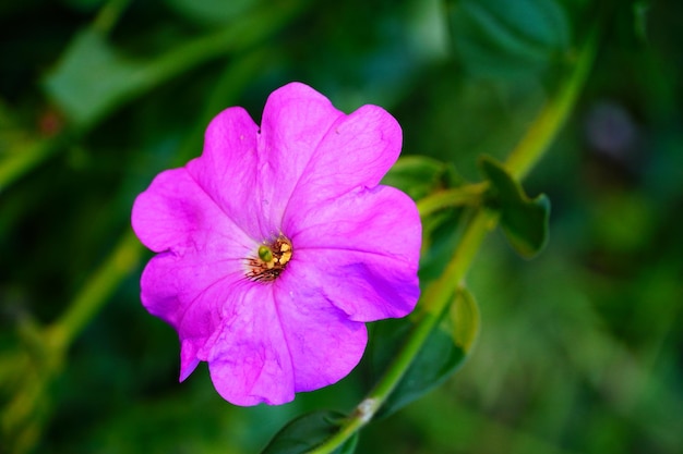
{"type": "MultiPolygon", "coordinates": [[[[388,367],[414,326],[409,319],[376,324],[371,355],[380,372],[388,367]]],[[[376,418],[395,413],[451,377],[467,358],[478,331],[477,303],[467,290],[460,289],[376,418]]]]}

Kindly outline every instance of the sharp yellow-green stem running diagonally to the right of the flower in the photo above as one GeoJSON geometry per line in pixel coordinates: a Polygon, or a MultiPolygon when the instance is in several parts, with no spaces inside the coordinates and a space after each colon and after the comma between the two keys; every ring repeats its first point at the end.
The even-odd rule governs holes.
{"type": "MultiPolygon", "coordinates": [[[[511,154],[506,165],[516,177],[522,179],[534,168],[568,116],[586,81],[588,70],[592,64],[596,52],[596,34],[591,34],[582,49],[576,68],[567,82],[539,113],[527,135],[522,138],[518,146],[511,154]]],[[[452,195],[456,198],[454,205],[460,205],[465,199],[462,194],[452,193],[452,195]]],[[[421,205],[419,205],[420,213],[431,212],[444,205],[447,205],[447,203],[442,200],[440,195],[434,196],[429,201],[421,200],[421,205]]],[[[476,212],[466,226],[462,241],[443,274],[422,295],[422,304],[427,305],[422,318],[408,336],[385,375],[356,407],[354,414],[342,424],[339,430],[321,445],[310,451],[310,454],[329,454],[342,446],[346,440],[372,419],[373,415],[408,370],[420,348],[424,345],[430,332],[436,326],[439,317],[462,285],[465,274],[487,233],[495,228],[498,223],[498,212],[482,206],[475,209],[476,212]]]]}

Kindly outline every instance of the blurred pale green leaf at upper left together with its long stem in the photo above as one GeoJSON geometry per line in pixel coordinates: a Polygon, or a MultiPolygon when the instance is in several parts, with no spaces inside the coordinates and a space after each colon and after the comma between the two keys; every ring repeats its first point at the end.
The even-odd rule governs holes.
{"type": "Polygon", "coordinates": [[[253,46],[287,24],[303,5],[304,1],[290,1],[257,9],[144,62],[128,60],[103,35],[84,29],[44,87],[76,125],[91,125],[124,101],[200,63],[253,46]]]}

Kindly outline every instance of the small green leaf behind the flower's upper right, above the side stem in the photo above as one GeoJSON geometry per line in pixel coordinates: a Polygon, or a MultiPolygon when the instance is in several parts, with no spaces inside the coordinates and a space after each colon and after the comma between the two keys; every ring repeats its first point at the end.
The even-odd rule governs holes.
{"type": "Polygon", "coordinates": [[[390,169],[382,184],[394,186],[408,194],[414,200],[442,189],[457,186],[462,179],[453,164],[423,156],[407,156],[390,169]]]}

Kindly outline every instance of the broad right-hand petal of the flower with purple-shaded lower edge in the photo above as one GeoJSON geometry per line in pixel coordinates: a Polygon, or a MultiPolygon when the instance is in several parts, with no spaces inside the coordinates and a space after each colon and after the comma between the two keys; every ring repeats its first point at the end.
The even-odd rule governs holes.
{"type": "Polygon", "coordinates": [[[412,310],[420,294],[421,224],[407,195],[375,186],[298,214],[284,230],[293,245],[291,268],[305,263],[299,285],[321,293],[356,321],[412,310]]]}

